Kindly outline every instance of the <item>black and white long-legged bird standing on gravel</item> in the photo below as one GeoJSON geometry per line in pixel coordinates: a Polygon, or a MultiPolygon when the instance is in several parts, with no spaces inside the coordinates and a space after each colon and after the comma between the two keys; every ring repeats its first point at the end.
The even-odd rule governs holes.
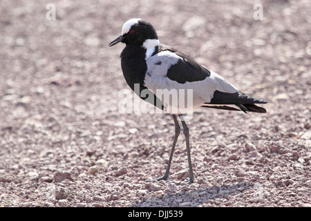
{"type": "MultiPolygon", "coordinates": [[[[114,46],[119,42],[126,44],[120,59],[127,84],[132,90],[134,90],[135,84],[138,85],[139,91],[134,90],[135,93],[160,109],[166,108],[167,105],[173,106],[173,104],[164,104],[163,97],[156,96],[157,90],[185,89],[191,90],[192,108],[204,106],[229,111],[243,111],[245,113],[266,113],[265,108],[256,106],[256,104],[267,103],[264,99],[242,93],[229,81],[205,68],[205,66],[201,66],[188,55],[170,46],[160,44],[156,30],[148,21],[143,19],[126,21],[122,27],[122,35],[111,41],[109,46],[114,46]],[[149,92],[147,93],[148,96],[146,96],[146,93],[141,93],[142,90],[147,90],[149,92]]],[[[178,96],[180,96],[179,93],[178,96]]],[[[156,180],[169,180],[171,160],[180,134],[178,115],[185,135],[189,163],[189,180],[187,182],[194,182],[190,157],[189,128],[185,123],[184,112],[181,109],[179,106],[169,108],[169,113],[172,114],[175,124],[175,136],[167,169],[164,175],[156,180]]]]}

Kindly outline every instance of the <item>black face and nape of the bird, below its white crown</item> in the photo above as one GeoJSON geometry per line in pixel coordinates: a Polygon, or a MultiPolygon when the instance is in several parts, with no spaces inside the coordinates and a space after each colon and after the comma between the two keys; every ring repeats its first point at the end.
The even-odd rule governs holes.
{"type": "Polygon", "coordinates": [[[158,39],[158,35],[151,23],[140,20],[123,35],[122,42],[129,45],[142,45],[146,39],[158,39]]]}

